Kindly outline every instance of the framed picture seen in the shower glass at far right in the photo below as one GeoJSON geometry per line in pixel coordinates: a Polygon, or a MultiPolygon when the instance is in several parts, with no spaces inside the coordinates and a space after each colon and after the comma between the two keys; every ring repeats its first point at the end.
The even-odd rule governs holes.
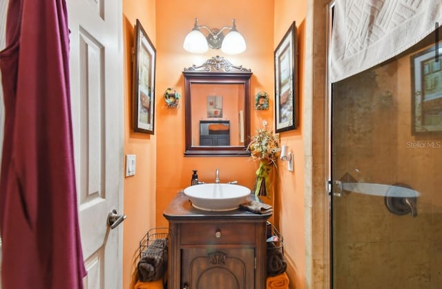
{"type": "Polygon", "coordinates": [[[442,132],[441,54],[442,43],[438,43],[410,57],[412,134],[442,132]]]}

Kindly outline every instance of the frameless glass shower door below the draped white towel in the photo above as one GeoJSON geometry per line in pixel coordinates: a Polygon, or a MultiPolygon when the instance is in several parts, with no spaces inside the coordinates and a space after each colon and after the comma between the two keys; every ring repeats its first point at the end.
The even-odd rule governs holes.
{"type": "Polygon", "coordinates": [[[433,46],[332,87],[334,289],[442,288],[442,70],[414,67],[433,46]]]}

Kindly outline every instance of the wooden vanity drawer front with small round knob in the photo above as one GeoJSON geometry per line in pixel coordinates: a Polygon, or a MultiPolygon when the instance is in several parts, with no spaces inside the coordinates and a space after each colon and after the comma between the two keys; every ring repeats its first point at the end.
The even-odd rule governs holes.
{"type": "Polygon", "coordinates": [[[182,223],[183,245],[253,244],[254,223],[182,223]]]}

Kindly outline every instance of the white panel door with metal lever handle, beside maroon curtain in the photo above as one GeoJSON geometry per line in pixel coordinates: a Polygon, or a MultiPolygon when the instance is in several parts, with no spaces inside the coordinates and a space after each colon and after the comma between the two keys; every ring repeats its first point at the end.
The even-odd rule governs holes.
{"type": "Polygon", "coordinates": [[[122,1],[68,0],[75,173],[86,289],[122,288],[122,1]]]}

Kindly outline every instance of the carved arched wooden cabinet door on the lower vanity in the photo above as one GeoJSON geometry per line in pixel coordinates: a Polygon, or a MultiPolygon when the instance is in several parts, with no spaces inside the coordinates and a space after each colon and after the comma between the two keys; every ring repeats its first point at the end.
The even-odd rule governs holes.
{"type": "Polygon", "coordinates": [[[254,248],[189,248],[182,250],[182,288],[255,288],[254,248]]]}

